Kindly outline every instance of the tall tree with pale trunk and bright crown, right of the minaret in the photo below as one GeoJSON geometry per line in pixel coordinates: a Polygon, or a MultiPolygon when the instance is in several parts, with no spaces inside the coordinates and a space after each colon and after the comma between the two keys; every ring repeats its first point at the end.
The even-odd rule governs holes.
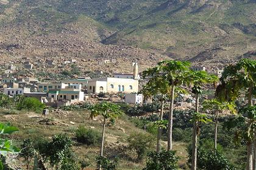
{"type": "Polygon", "coordinates": [[[165,60],[158,63],[159,71],[163,81],[168,82],[169,100],[171,101],[168,114],[168,147],[167,151],[172,150],[172,121],[174,110],[174,90],[176,86],[187,83],[190,75],[190,63],[188,61],[165,60]]]}

